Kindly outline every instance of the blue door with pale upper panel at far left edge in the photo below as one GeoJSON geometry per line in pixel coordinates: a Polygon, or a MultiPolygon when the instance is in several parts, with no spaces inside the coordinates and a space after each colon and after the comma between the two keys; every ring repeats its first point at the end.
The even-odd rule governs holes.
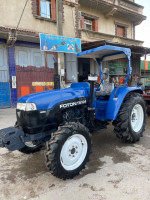
{"type": "Polygon", "coordinates": [[[4,45],[0,45],[0,108],[6,107],[10,107],[7,51],[4,45]]]}

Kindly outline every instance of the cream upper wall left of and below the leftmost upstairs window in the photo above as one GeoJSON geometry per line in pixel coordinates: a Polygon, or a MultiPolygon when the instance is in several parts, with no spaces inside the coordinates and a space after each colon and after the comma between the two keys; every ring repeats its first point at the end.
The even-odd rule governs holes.
{"type": "MultiPolygon", "coordinates": [[[[5,19],[5,20],[1,21],[0,26],[6,26],[11,28],[16,27],[24,5],[25,5],[25,0],[3,1],[2,3],[3,8],[0,7],[0,19],[5,19]]],[[[31,6],[32,6],[31,1],[28,1],[19,28],[31,30],[34,32],[45,32],[45,33],[51,32],[51,34],[56,34],[56,24],[36,19],[32,14],[31,6]]]]}

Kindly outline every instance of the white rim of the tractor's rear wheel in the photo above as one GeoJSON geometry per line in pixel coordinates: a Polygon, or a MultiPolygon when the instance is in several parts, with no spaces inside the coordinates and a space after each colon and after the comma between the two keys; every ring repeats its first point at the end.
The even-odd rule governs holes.
{"type": "Polygon", "coordinates": [[[140,104],[136,104],[131,112],[131,126],[134,132],[139,132],[143,126],[144,112],[140,104]]]}

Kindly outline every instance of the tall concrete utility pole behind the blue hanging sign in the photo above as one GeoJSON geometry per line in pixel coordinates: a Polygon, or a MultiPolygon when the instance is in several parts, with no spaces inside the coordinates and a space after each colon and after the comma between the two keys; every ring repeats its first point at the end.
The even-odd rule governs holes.
{"type": "MultiPolygon", "coordinates": [[[[63,36],[63,0],[56,0],[57,35],[63,36]]],[[[64,71],[64,53],[58,53],[58,73],[60,75],[60,85],[62,86],[64,71]]]]}

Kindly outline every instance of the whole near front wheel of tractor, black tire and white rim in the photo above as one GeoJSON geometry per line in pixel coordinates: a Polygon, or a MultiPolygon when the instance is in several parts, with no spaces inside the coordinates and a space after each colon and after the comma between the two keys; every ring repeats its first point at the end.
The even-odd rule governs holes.
{"type": "Polygon", "coordinates": [[[91,135],[80,123],[66,123],[46,144],[46,164],[61,179],[71,179],[85,168],[91,153],[91,135]]]}

